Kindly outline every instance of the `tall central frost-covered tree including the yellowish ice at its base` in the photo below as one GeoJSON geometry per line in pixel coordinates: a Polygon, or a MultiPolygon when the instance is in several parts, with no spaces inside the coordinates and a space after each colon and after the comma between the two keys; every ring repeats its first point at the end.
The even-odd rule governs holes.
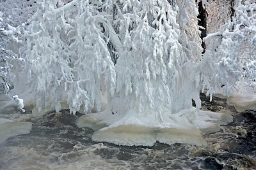
{"type": "Polygon", "coordinates": [[[108,125],[93,134],[94,140],[118,145],[204,143],[193,127],[198,112],[191,107],[194,99],[200,108],[196,67],[202,48],[196,4],[171,2],[123,1],[119,5],[119,32],[125,34],[124,53],[115,65],[116,94],[106,111],[84,118],[90,127],[108,125]]]}

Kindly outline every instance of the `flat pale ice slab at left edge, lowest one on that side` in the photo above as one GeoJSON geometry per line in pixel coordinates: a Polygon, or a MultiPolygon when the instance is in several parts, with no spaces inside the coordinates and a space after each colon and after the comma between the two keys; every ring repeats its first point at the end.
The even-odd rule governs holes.
{"type": "Polygon", "coordinates": [[[12,122],[12,120],[0,119],[0,144],[6,139],[20,134],[28,134],[31,131],[30,122],[12,122]]]}

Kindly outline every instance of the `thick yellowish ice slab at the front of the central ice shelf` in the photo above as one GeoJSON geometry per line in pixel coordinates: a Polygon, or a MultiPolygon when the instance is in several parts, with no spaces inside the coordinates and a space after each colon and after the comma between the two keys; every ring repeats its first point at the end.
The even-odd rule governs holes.
{"type": "Polygon", "coordinates": [[[95,131],[92,140],[125,146],[153,146],[157,141],[168,145],[174,143],[206,145],[205,139],[202,138],[202,134],[197,129],[147,127],[142,125],[120,125],[103,131],[95,131]]]}

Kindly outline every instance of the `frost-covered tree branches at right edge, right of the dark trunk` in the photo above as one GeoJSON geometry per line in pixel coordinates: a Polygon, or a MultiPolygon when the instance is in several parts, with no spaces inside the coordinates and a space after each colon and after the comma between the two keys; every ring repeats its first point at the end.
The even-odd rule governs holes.
{"type": "Polygon", "coordinates": [[[205,82],[208,85],[214,82],[209,86],[215,89],[225,85],[222,88],[224,94],[231,94],[237,80],[244,77],[250,80],[251,86],[255,86],[255,15],[255,3],[236,1],[233,20],[228,20],[218,32],[205,38],[205,41],[214,40],[204,57],[208,68],[211,68],[205,70],[208,73],[203,71],[211,74],[205,82]]]}

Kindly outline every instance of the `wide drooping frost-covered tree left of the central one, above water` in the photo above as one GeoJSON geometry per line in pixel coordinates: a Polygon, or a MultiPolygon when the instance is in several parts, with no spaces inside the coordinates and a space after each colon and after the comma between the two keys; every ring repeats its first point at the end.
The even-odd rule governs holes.
{"type": "Polygon", "coordinates": [[[24,93],[26,102],[36,96],[35,113],[60,111],[65,107],[61,101],[74,114],[82,105],[85,113],[94,107],[100,110],[101,85],[113,95],[116,79],[109,40],[102,32],[106,18],[98,14],[100,7],[88,1],[62,5],[42,1],[33,16],[24,33],[26,46],[20,48],[29,62],[15,81],[22,85],[14,91],[24,93]]]}

